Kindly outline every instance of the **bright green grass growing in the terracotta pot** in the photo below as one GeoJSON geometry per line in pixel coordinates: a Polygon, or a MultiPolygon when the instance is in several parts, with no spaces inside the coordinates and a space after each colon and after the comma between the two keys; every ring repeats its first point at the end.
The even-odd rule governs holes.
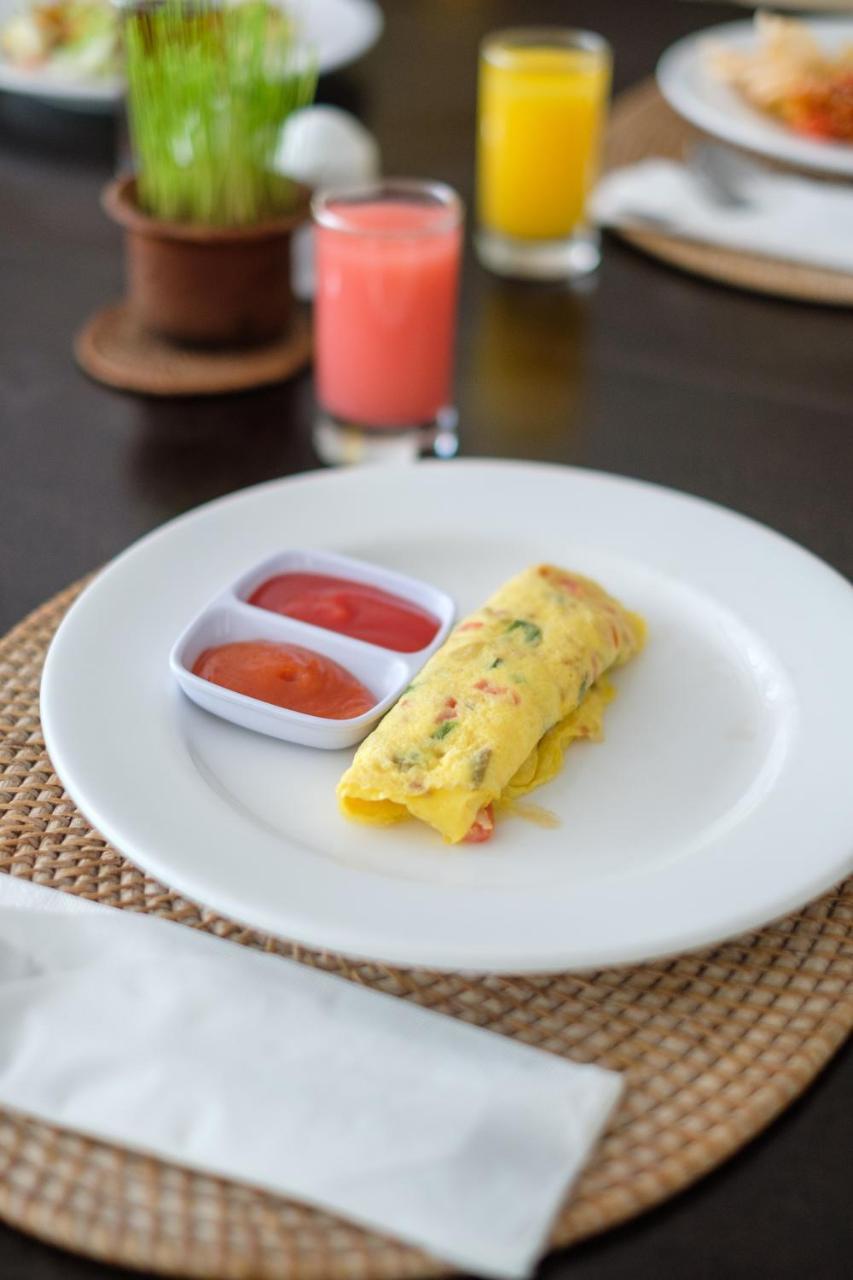
{"type": "Polygon", "coordinates": [[[265,0],[161,0],[131,10],[124,38],[143,211],[209,227],[287,214],[295,187],[274,172],[275,151],[316,73],[282,10],[265,0]]]}

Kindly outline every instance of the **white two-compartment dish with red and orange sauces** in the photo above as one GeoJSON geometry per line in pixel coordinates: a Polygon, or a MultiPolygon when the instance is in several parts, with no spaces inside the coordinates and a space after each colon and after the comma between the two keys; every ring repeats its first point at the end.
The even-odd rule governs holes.
{"type": "Polygon", "coordinates": [[[272,556],[215,596],[169,657],[183,692],[304,746],[366,737],[453,622],[429,582],[319,550],[272,556]]]}

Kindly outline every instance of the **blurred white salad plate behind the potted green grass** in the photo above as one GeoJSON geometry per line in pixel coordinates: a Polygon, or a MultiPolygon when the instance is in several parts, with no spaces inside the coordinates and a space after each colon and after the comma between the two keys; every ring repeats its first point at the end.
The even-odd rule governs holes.
{"type": "MultiPolygon", "coordinates": [[[[382,35],[382,9],[375,0],[272,0],[292,13],[300,35],[318,56],[320,74],[338,70],[361,58],[382,35]]],[[[27,6],[27,0],[0,0],[0,26],[27,6]]],[[[124,81],[72,79],[55,69],[23,70],[0,55],[0,91],[38,97],[76,111],[111,111],[122,100],[124,81]]]]}

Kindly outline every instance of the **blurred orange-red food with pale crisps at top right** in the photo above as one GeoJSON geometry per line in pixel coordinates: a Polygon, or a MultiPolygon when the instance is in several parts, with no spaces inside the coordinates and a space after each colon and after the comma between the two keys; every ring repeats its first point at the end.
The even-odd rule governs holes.
{"type": "Polygon", "coordinates": [[[749,52],[712,46],[712,72],[797,133],[853,142],[853,44],[827,54],[806,23],[767,13],[756,36],[749,52]]]}

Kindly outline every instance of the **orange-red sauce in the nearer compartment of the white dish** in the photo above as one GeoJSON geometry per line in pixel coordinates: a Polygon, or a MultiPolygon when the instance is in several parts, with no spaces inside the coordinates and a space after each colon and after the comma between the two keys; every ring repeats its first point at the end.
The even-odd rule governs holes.
{"type": "Polygon", "coordinates": [[[377,704],[346,667],[296,644],[220,644],[196,658],[192,673],[261,703],[324,719],[352,719],[377,704]]]}

